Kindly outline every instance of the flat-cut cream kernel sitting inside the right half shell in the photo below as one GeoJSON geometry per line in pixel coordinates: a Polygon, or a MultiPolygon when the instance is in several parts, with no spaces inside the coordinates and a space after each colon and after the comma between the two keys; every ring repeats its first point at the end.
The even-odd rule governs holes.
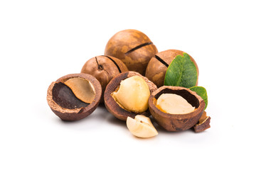
{"type": "Polygon", "coordinates": [[[164,113],[186,114],[195,110],[185,98],[177,94],[161,94],[156,101],[156,107],[164,113]]]}

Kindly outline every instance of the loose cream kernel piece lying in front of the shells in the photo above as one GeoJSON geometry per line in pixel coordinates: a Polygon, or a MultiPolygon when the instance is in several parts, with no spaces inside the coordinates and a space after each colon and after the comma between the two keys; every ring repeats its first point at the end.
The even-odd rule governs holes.
{"type": "Polygon", "coordinates": [[[151,120],[144,115],[136,115],[134,119],[127,117],[127,128],[137,137],[154,137],[158,135],[151,120]]]}

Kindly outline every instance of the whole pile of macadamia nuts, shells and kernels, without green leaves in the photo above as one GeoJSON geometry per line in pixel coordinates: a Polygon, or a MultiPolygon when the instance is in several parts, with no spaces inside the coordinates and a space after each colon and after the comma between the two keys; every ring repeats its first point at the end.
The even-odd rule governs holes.
{"type": "MultiPolygon", "coordinates": [[[[48,87],[47,101],[62,120],[80,120],[100,103],[127,123],[137,137],[158,135],[153,120],[168,131],[210,128],[206,101],[182,86],[164,86],[166,70],[181,50],[158,52],[139,30],[122,30],[107,42],[105,54],[85,62],[80,74],[60,77],[48,87]]],[[[198,84],[198,66],[196,66],[198,84]]],[[[188,60],[189,60],[188,57],[188,60]]]]}

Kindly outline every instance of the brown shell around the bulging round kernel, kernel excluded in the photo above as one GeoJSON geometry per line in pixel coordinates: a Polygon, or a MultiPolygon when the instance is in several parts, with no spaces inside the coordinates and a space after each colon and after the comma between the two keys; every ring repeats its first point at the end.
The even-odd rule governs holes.
{"type": "Polygon", "coordinates": [[[131,117],[131,118],[135,118],[135,115],[149,115],[149,110],[147,110],[144,113],[133,113],[130,111],[125,110],[124,108],[120,107],[116,101],[114,101],[114,98],[112,98],[111,94],[112,92],[114,92],[120,85],[121,81],[124,79],[127,79],[129,77],[133,77],[133,76],[139,76],[142,77],[144,79],[144,81],[146,81],[146,84],[148,84],[149,86],[149,91],[150,94],[155,91],[157,89],[156,85],[154,83],[152,83],[151,81],[149,81],[149,79],[147,79],[146,77],[143,77],[141,74],[137,73],[137,72],[124,72],[121,74],[118,74],[116,77],[114,77],[109,84],[107,84],[107,88],[105,90],[105,94],[104,94],[104,101],[105,101],[105,106],[107,108],[107,110],[112,113],[112,115],[114,115],[116,118],[118,118],[119,120],[127,120],[127,117],[131,117]]]}

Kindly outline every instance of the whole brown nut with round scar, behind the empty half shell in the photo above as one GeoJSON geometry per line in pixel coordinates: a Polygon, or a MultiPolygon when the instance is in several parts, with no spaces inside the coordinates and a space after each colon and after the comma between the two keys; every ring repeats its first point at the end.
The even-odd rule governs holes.
{"type": "MultiPolygon", "coordinates": [[[[127,72],[126,65],[119,59],[107,55],[99,55],[92,57],[85,62],[81,69],[81,73],[91,74],[94,76],[102,86],[102,94],[106,89],[107,84],[117,74],[127,72]]],[[[103,103],[103,95],[100,102],[103,103]]]]}

